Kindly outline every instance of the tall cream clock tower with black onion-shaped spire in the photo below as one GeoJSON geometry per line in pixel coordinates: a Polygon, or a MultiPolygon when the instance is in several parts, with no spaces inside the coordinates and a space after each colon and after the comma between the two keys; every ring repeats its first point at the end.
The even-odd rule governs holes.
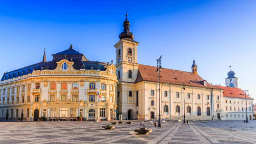
{"type": "Polygon", "coordinates": [[[122,119],[136,119],[138,104],[136,100],[139,92],[135,81],[138,74],[137,47],[134,35],[130,32],[130,22],[124,21],[124,30],[119,34],[120,41],[114,46],[116,48],[116,72],[119,81],[117,86],[117,117],[122,119]]]}

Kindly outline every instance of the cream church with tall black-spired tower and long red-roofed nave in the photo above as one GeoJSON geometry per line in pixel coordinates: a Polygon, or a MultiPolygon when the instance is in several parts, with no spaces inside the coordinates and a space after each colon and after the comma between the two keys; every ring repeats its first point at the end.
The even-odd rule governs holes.
{"type": "Polygon", "coordinates": [[[222,119],[220,107],[223,90],[208,83],[197,74],[195,60],[192,72],[163,69],[160,72],[160,99],[156,66],[139,64],[139,42],[130,32],[130,22],[124,21],[124,31],[115,44],[118,76],[117,114],[122,119],[149,120],[160,116],[164,119],[189,120],[222,119]],[[183,91],[183,84],[185,90],[183,91]],[[185,103],[184,103],[185,99],[185,103]]]}

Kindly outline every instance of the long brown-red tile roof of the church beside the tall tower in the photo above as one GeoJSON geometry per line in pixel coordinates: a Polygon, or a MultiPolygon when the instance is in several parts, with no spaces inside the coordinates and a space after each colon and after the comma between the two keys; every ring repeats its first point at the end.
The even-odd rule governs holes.
{"type": "MultiPolygon", "coordinates": [[[[139,64],[138,76],[135,83],[141,81],[158,82],[158,75],[156,69],[156,66],[139,64]]],[[[187,86],[221,90],[221,88],[218,88],[215,85],[207,82],[206,85],[204,85],[204,81],[205,80],[202,79],[201,76],[199,76],[198,74],[193,74],[191,72],[171,70],[165,68],[163,68],[163,70],[160,72],[160,82],[177,85],[183,85],[184,82],[187,86]]]]}

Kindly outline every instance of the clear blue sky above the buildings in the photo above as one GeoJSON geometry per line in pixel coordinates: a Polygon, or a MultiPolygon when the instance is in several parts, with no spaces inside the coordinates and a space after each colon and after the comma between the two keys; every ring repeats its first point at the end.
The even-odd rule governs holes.
{"type": "Polygon", "coordinates": [[[73,44],[91,61],[115,62],[128,11],[138,63],[191,71],[225,84],[229,65],[256,99],[256,1],[1,1],[0,73],[42,61],[73,44]]]}

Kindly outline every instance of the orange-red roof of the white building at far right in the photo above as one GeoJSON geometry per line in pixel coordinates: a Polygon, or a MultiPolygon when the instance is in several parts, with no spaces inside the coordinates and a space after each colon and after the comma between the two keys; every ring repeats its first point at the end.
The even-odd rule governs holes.
{"type": "MultiPolygon", "coordinates": [[[[223,92],[223,97],[245,99],[245,93],[243,92],[243,90],[241,90],[239,88],[223,87],[223,86],[220,86],[220,85],[217,85],[216,87],[225,90],[223,92]]],[[[250,98],[248,95],[246,95],[246,99],[252,99],[253,100],[253,98],[250,98]]]]}

